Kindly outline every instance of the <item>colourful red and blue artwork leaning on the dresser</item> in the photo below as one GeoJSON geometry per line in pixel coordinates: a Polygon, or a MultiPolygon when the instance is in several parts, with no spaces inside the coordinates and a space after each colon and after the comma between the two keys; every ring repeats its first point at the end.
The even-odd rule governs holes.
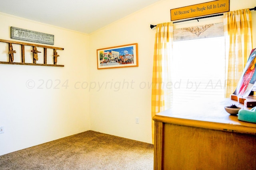
{"type": "Polygon", "coordinates": [[[245,65],[243,74],[233,94],[238,97],[247,98],[256,85],[256,48],[252,49],[249,59],[245,65]]]}

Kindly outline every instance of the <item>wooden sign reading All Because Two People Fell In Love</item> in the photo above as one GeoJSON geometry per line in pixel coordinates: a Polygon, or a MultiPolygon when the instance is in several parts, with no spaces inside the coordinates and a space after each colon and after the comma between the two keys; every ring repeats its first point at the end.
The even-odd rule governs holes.
{"type": "Polygon", "coordinates": [[[171,21],[229,11],[229,0],[215,0],[171,10],[171,21]]]}

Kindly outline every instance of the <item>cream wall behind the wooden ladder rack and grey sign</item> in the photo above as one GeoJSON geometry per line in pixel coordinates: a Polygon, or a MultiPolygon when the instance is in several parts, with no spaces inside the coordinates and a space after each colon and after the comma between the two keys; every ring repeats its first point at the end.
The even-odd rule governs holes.
{"type": "MultiPolygon", "coordinates": [[[[57,64],[64,67],[0,64],[0,126],[5,131],[0,134],[0,155],[89,130],[89,94],[74,87],[89,80],[89,35],[6,14],[0,14],[0,23],[0,39],[20,41],[10,39],[13,26],[52,34],[54,45],[48,46],[64,48],[57,50],[57,64]],[[27,87],[33,85],[28,81],[34,88],[27,87]]],[[[0,43],[0,61],[8,58],[7,45],[0,43]]],[[[13,47],[14,60],[19,60],[20,46],[13,47]]],[[[28,61],[30,50],[26,49],[28,61]]],[[[38,53],[41,61],[42,53],[38,53]]]]}

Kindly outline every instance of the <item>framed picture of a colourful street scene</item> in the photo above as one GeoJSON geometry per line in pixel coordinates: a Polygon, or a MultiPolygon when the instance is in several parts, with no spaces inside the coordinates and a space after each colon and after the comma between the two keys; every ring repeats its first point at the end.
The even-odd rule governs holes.
{"type": "Polygon", "coordinates": [[[98,69],[136,66],[138,66],[138,43],[97,49],[98,69]]]}

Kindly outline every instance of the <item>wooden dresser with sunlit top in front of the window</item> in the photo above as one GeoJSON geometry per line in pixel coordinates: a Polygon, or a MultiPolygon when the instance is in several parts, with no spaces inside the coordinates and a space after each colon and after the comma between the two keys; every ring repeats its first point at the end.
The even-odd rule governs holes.
{"type": "Polygon", "coordinates": [[[231,104],[238,103],[197,103],[155,115],[154,169],[256,170],[256,124],[227,113],[231,104]]]}

